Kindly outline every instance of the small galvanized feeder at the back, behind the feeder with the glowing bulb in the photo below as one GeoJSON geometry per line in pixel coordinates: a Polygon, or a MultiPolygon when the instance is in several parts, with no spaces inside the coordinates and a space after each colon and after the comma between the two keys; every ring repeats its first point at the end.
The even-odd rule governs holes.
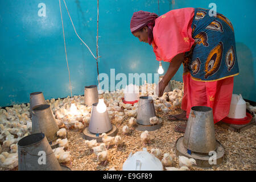
{"type": "Polygon", "coordinates": [[[98,102],[98,89],[96,85],[84,87],[84,104],[91,106],[98,102]]]}

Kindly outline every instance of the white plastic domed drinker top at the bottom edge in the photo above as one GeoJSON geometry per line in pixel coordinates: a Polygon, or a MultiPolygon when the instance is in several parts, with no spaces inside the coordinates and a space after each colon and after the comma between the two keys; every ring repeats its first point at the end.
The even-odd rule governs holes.
{"type": "Polygon", "coordinates": [[[158,158],[147,152],[147,148],[143,148],[143,151],[134,155],[131,152],[123,163],[123,171],[163,171],[163,165],[158,158]]]}

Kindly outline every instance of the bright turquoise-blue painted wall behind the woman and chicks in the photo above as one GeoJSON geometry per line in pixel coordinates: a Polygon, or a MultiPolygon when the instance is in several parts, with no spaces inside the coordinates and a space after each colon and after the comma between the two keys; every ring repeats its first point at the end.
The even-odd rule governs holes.
{"type": "MultiPolygon", "coordinates": [[[[130,32],[134,11],[158,14],[157,0],[100,0],[100,73],[155,73],[158,61],[152,47],[138,41],[130,32]]],[[[235,77],[234,93],[256,101],[255,1],[175,1],[182,7],[208,8],[233,23],[237,42],[240,76],[235,77]]],[[[67,0],[77,33],[96,55],[97,1],[67,0]]],[[[61,1],[73,95],[83,94],[84,86],[97,84],[96,61],[75,35],[67,10],[61,1]]],[[[171,0],[160,0],[160,14],[172,9],[171,0]]],[[[29,102],[31,92],[42,91],[46,99],[70,96],[67,63],[61,27],[59,1],[0,1],[0,106],[29,102]],[[39,3],[46,4],[46,17],[39,17],[39,3]]],[[[163,63],[164,70],[168,63],[163,63]]],[[[174,77],[182,81],[182,69],[174,77]]],[[[117,83],[117,81],[116,81],[117,83]]]]}

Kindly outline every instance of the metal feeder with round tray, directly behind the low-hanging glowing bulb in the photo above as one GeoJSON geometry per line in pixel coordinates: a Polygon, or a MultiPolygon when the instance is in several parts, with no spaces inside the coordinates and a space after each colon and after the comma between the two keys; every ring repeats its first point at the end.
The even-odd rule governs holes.
{"type": "Polygon", "coordinates": [[[102,133],[114,137],[117,135],[117,127],[113,125],[109,118],[108,110],[104,113],[99,113],[96,109],[98,103],[92,105],[92,111],[90,114],[89,126],[85,127],[82,131],[83,138],[86,140],[96,139],[97,142],[102,142],[102,133]]]}

